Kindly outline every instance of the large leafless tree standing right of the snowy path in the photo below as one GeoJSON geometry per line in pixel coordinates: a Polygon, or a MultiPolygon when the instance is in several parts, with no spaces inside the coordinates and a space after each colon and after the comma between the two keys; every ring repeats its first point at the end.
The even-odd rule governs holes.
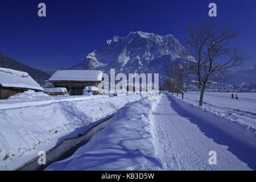
{"type": "Polygon", "coordinates": [[[200,89],[199,105],[203,105],[205,88],[212,82],[221,82],[224,73],[230,68],[239,67],[250,58],[238,47],[230,47],[230,41],[239,32],[233,26],[216,27],[200,23],[188,28],[187,51],[181,53],[185,59],[192,60],[191,72],[197,76],[200,89]]]}

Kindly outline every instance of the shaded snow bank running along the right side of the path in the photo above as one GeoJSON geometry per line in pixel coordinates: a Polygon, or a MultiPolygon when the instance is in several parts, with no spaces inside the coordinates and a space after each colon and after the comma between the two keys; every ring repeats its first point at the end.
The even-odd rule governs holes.
{"type": "MultiPolygon", "coordinates": [[[[170,96],[172,96],[170,94],[170,96]]],[[[214,127],[224,131],[232,137],[240,140],[243,143],[249,144],[256,148],[256,130],[242,121],[233,120],[232,117],[221,113],[220,110],[216,111],[208,107],[200,107],[198,102],[189,102],[181,100],[180,97],[172,96],[174,101],[180,107],[187,110],[189,113],[196,115],[204,121],[210,123],[214,127]]]]}

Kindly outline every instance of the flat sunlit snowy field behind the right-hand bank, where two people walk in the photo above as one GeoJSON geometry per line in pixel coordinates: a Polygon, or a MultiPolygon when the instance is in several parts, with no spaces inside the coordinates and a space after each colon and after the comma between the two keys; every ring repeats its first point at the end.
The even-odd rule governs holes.
{"type": "MultiPolygon", "coordinates": [[[[205,92],[203,108],[256,133],[256,93],[233,93],[238,95],[238,100],[232,100],[231,94],[205,92]]],[[[184,94],[184,101],[197,106],[199,97],[197,92],[188,92],[184,94]]]]}

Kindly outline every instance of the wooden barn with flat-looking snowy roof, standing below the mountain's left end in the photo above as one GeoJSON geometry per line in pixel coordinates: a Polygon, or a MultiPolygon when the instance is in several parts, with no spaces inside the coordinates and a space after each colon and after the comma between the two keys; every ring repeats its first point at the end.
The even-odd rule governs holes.
{"type": "Polygon", "coordinates": [[[102,81],[102,71],[98,70],[58,70],[49,78],[55,88],[64,87],[71,96],[82,95],[85,86],[98,86],[102,81]]]}

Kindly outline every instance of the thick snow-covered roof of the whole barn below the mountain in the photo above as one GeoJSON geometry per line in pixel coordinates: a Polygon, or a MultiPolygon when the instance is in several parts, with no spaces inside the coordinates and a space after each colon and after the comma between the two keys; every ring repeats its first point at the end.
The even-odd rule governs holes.
{"type": "Polygon", "coordinates": [[[98,70],[58,70],[49,81],[102,81],[102,71],[98,70]]]}

